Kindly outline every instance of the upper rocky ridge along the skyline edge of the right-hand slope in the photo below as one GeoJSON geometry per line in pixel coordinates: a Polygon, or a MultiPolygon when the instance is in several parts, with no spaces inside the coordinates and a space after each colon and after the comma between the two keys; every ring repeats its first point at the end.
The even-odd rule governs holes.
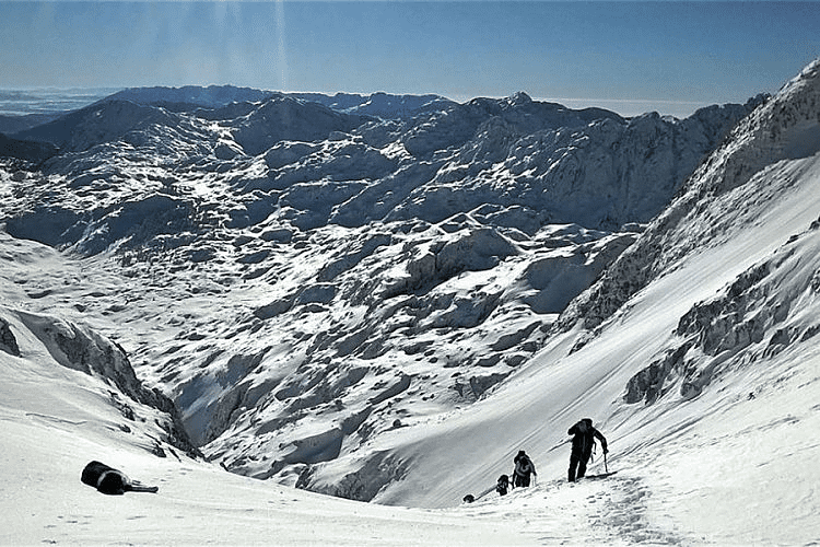
{"type": "Polygon", "coordinates": [[[655,219],[639,241],[608,269],[561,318],[570,328],[582,321],[595,328],[631,295],[663,272],[676,257],[721,237],[722,207],[743,190],[754,174],[785,159],[807,158],[820,149],[820,63],[813,62],[783,90],[736,127],[726,142],[692,175],[681,195],[655,219]],[[733,190],[738,189],[733,197],[733,190]]]}

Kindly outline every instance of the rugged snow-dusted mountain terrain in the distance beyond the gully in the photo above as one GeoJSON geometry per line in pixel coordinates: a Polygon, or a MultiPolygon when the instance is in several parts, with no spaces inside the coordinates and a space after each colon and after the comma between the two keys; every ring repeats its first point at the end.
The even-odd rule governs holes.
{"type": "Polygon", "coordinates": [[[367,442],[530,359],[754,104],[624,120],[519,93],[378,120],[166,91],[26,133],[63,148],[9,173],[7,231],[99,276],[32,274],[30,304],[120,340],[210,458],[314,488],[358,453],[376,480],[333,492],[363,500],[401,474],[367,442]]]}

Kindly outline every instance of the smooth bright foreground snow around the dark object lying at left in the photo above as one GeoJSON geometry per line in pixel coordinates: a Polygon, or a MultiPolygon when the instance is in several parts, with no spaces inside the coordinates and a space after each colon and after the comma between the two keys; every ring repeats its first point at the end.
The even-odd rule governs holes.
{"type": "MultiPolygon", "coordinates": [[[[5,243],[5,242],[4,242],[5,243]]],[[[57,265],[55,265],[57,266],[57,265]]],[[[515,524],[367,505],[239,477],[165,445],[156,415],[101,377],[50,359],[3,310],[20,356],[0,351],[2,545],[525,545],[515,524]],[[109,397],[108,394],[112,394],[109,397]],[[121,406],[128,401],[134,418],[121,406]],[[153,450],[153,452],[152,452],[153,450]],[[91,459],[160,487],[109,497],[80,482],[91,459]]]]}

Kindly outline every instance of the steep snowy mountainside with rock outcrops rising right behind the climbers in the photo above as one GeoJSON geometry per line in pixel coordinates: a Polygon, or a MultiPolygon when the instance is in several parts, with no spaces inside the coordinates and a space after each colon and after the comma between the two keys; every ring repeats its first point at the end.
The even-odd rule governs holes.
{"type": "Polygon", "coordinates": [[[579,324],[557,334],[487,399],[390,441],[394,457],[413,464],[376,499],[445,505],[508,469],[518,449],[561,477],[563,431],[590,416],[619,470],[608,481],[634,503],[621,515],[634,540],[817,540],[820,143],[805,136],[818,124],[819,69],[741,124],[689,182],[684,220],[670,228],[673,205],[619,258],[623,275],[642,247],[664,241],[672,258],[643,256],[654,278],[593,323],[591,338],[578,337],[579,324]],[[788,152],[796,138],[801,158],[788,152]],[[457,476],[444,465],[454,451],[464,455],[457,476]]]}

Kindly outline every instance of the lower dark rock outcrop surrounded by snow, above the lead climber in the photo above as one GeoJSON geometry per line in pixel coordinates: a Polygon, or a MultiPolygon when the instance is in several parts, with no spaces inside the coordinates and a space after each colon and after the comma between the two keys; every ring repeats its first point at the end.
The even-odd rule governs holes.
{"type": "Polygon", "coordinates": [[[819,226],[820,219],[771,259],[689,310],[675,333],[679,344],[630,380],[624,401],[652,404],[676,389],[689,399],[726,374],[728,366],[754,366],[793,345],[809,342],[820,333],[813,316],[820,300],[819,226]],[[742,359],[733,360],[740,354],[742,359]]]}

